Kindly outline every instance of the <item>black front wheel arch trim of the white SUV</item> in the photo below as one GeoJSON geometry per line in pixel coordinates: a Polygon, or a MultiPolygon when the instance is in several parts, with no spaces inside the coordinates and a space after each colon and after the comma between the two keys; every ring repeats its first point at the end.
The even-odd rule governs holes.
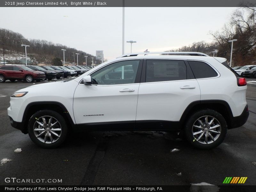
{"type": "Polygon", "coordinates": [[[29,103],[23,113],[22,122],[24,122],[25,134],[28,133],[28,121],[30,117],[37,111],[41,111],[45,109],[58,112],[61,116],[64,117],[64,119],[68,124],[68,127],[73,129],[74,127],[73,120],[70,114],[68,113],[67,108],[62,103],[57,101],[36,101],[36,102],[29,103]]]}

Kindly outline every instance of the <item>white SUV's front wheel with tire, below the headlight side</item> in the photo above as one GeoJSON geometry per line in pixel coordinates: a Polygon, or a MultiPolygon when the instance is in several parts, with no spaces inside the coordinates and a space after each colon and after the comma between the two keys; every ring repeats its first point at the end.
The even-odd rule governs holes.
{"type": "Polygon", "coordinates": [[[37,111],[28,122],[30,139],[42,148],[56,148],[67,137],[67,123],[63,116],[52,110],[37,111]]]}

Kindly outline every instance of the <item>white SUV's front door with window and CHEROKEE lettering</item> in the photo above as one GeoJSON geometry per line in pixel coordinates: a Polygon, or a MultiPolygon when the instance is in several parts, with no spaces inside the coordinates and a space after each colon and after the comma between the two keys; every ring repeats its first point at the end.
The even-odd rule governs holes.
{"type": "Polygon", "coordinates": [[[81,82],[74,94],[76,124],[133,129],[141,67],[142,60],[118,61],[93,72],[92,85],[81,82]]]}

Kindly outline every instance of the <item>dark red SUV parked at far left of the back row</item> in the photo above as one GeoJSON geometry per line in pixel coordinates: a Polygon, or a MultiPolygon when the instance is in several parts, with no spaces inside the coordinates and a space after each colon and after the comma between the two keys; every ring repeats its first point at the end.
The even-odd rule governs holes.
{"type": "Polygon", "coordinates": [[[45,79],[44,72],[34,71],[26,66],[2,65],[0,66],[0,83],[5,80],[25,80],[28,83],[45,79]]]}

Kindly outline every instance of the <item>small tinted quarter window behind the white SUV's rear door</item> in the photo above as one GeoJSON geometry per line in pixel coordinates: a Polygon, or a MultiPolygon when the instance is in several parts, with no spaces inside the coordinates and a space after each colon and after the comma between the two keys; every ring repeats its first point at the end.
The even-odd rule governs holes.
{"type": "Polygon", "coordinates": [[[207,63],[201,61],[188,61],[196,79],[216,77],[218,74],[207,63]]]}

